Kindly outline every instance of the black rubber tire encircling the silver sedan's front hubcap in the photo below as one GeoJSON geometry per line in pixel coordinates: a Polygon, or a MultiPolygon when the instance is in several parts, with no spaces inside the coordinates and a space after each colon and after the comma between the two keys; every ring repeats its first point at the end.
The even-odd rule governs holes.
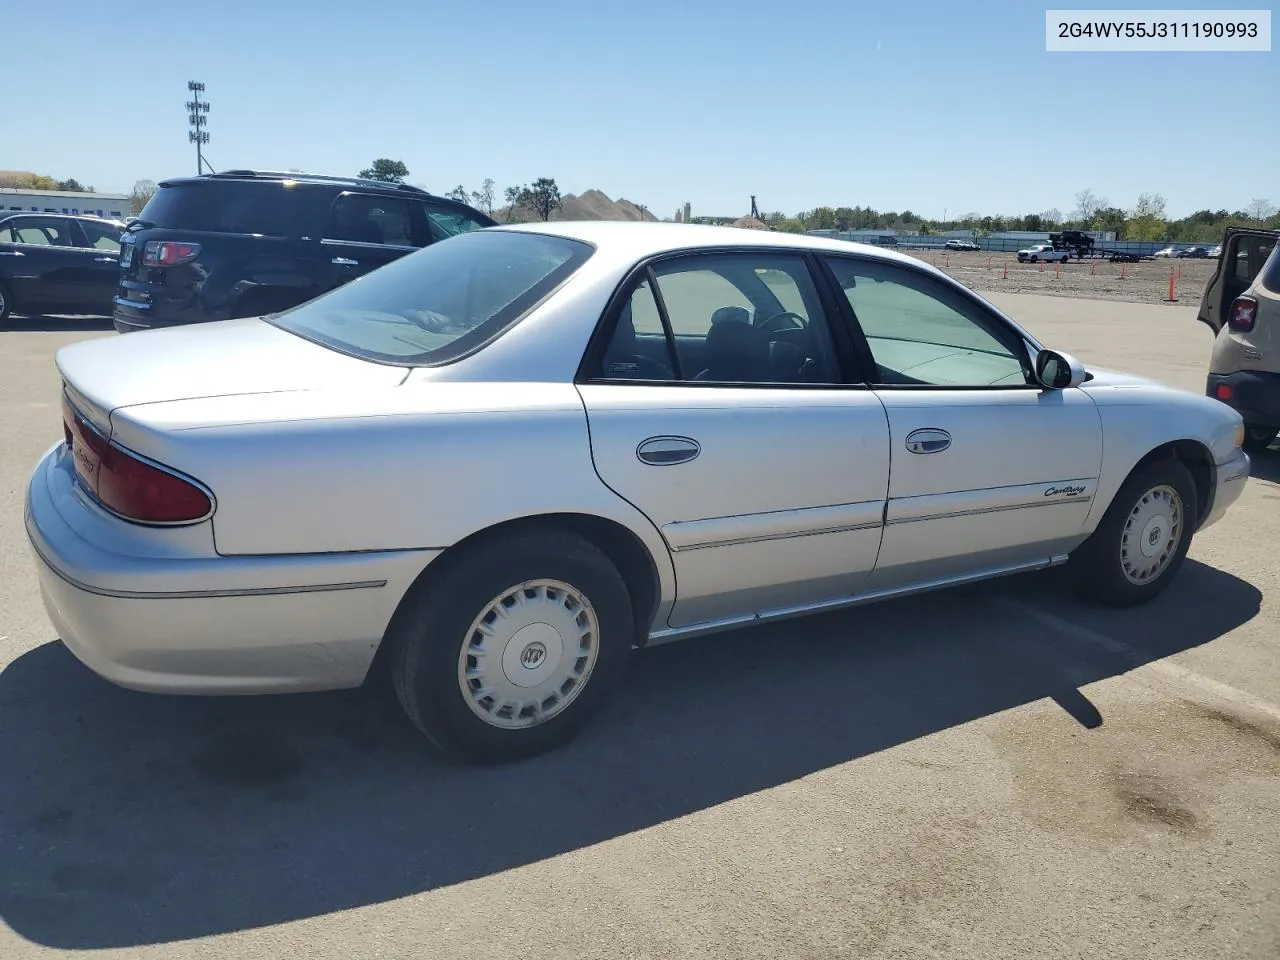
{"type": "MultiPolygon", "coordinates": [[[[1116,493],[1089,539],[1071,554],[1069,567],[1076,586],[1087,596],[1108,607],[1134,607],[1153,600],[1183,566],[1198,511],[1196,481],[1181,461],[1158,460],[1135,470],[1116,493]],[[1176,532],[1176,541],[1171,543],[1172,554],[1167,564],[1149,580],[1135,582],[1125,573],[1123,561],[1125,527],[1130,515],[1142,507],[1143,498],[1160,486],[1172,489],[1180,500],[1181,526],[1176,532]]],[[[1129,531],[1130,549],[1142,549],[1137,543],[1139,532],[1142,531],[1129,531]]]]}

